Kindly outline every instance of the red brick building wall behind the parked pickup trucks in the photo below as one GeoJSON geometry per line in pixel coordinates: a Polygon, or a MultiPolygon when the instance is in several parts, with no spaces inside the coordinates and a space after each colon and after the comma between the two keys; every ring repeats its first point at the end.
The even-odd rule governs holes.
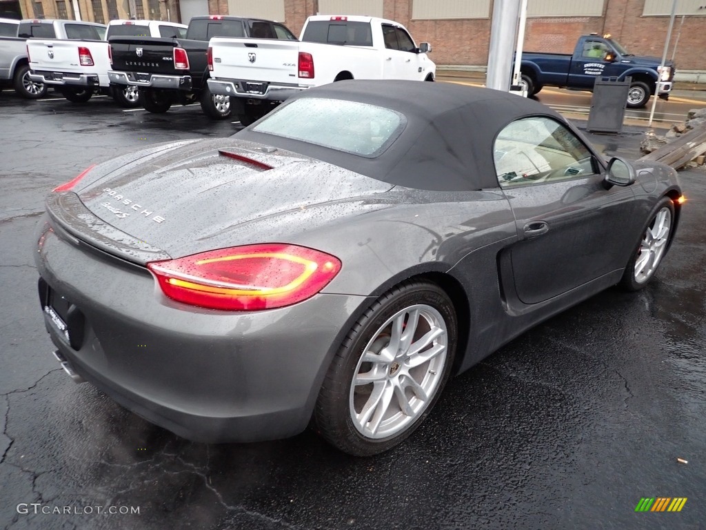
{"type": "MultiPolygon", "coordinates": [[[[40,0],[47,18],[56,16],[54,0],[40,0]]],[[[148,0],[143,2],[145,10],[148,0]]],[[[256,0],[253,0],[256,1],[256,0]]],[[[307,16],[316,13],[318,0],[283,0],[287,27],[299,35],[307,16]]],[[[412,20],[414,0],[381,0],[385,18],[405,25],[417,42],[431,42],[431,58],[436,64],[457,66],[484,66],[488,61],[492,8],[489,18],[464,20],[412,20]]],[[[471,0],[468,0],[471,1],[471,0]]],[[[103,0],[105,3],[105,0],[103,0]]],[[[79,0],[81,12],[90,18],[90,0],[79,0]]],[[[174,3],[174,4],[172,4],[174,3]]],[[[32,18],[32,0],[20,0],[23,16],[32,18]]],[[[66,0],[71,13],[71,2],[66,0]]],[[[120,15],[126,16],[127,0],[117,2],[120,15]]],[[[170,10],[172,20],[177,20],[177,8],[170,10]]],[[[706,0],[705,0],[706,4],[706,0]]],[[[631,52],[639,55],[662,57],[669,16],[642,16],[645,0],[605,0],[603,16],[528,18],[525,29],[525,49],[533,52],[571,53],[579,35],[585,33],[611,33],[631,52]]],[[[166,4],[162,4],[162,17],[166,19],[166,4]]],[[[230,14],[228,0],[208,0],[209,13],[230,14]]],[[[145,11],[147,13],[148,11],[145,11]]],[[[232,13],[237,14],[237,13],[232,13]]],[[[345,14],[345,13],[342,13],[345,14]]],[[[706,11],[705,11],[706,14],[706,11]]],[[[185,23],[188,20],[185,21],[185,23]]],[[[706,16],[687,16],[681,27],[681,16],[676,18],[668,56],[671,58],[678,38],[676,65],[680,70],[706,71],[706,16]]]]}

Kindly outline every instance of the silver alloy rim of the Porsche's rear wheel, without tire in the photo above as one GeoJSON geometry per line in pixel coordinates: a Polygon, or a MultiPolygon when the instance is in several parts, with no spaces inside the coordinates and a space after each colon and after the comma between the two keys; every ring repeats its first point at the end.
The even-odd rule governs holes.
{"type": "Polygon", "coordinates": [[[442,382],[448,329],[430,305],[398,311],[373,334],[354,371],[349,411],[366,438],[397,435],[419,418],[442,382]]]}

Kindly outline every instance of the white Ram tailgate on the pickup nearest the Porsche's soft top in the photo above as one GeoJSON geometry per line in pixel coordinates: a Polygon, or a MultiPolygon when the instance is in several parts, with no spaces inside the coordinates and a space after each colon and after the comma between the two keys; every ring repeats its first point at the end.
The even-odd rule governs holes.
{"type": "Polygon", "coordinates": [[[211,77],[297,83],[300,44],[296,40],[215,37],[210,40],[213,48],[211,77]]]}

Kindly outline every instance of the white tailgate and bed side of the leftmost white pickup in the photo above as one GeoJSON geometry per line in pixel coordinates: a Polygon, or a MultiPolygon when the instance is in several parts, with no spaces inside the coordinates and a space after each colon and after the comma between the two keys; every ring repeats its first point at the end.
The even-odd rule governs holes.
{"type": "Polygon", "coordinates": [[[92,59],[97,59],[97,54],[104,54],[105,61],[108,57],[108,47],[105,42],[85,42],[81,40],[27,40],[27,49],[30,53],[30,68],[38,71],[52,71],[64,73],[79,73],[90,68],[81,66],[78,58],[78,47],[87,47],[92,59]]]}

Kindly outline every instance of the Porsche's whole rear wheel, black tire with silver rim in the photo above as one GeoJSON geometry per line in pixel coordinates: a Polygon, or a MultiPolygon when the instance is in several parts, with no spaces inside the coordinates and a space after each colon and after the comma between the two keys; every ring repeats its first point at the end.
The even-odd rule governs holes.
{"type": "Polygon", "coordinates": [[[341,451],[359,457],[387,451],[403,442],[441,395],[453,365],[456,342],[455,309],[438,285],[407,281],[389,290],[358,319],[333,358],[314,411],[319,434],[341,451]],[[414,310],[419,311],[417,319],[410,317],[414,310]],[[411,322],[414,328],[405,336],[411,322]],[[388,351],[395,340],[395,323],[400,343],[388,351]],[[429,341],[429,348],[409,354],[432,329],[439,335],[429,341]],[[390,353],[393,350],[397,353],[390,353]],[[364,360],[366,352],[366,358],[374,360],[364,360]],[[375,382],[366,383],[366,376],[375,382]]]}

